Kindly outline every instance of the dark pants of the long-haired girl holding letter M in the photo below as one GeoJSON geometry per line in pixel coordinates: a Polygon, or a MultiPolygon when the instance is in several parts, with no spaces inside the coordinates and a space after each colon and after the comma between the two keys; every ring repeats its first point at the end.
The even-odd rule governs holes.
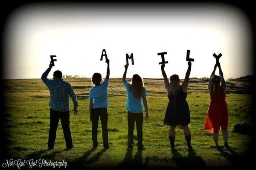
{"type": "Polygon", "coordinates": [[[134,122],[136,121],[138,148],[143,148],[142,144],[142,125],[143,125],[143,113],[132,113],[128,111],[128,147],[133,148],[133,131],[134,122]]]}

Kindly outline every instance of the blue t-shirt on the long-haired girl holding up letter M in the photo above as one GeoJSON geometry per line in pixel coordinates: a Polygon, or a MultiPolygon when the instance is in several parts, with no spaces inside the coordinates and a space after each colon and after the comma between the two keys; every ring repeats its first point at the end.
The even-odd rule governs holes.
{"type": "Polygon", "coordinates": [[[142,96],[140,98],[135,98],[132,94],[131,84],[128,83],[126,80],[124,84],[128,95],[126,101],[126,109],[132,113],[143,113],[142,97],[147,96],[145,87],[143,88],[142,96]]]}

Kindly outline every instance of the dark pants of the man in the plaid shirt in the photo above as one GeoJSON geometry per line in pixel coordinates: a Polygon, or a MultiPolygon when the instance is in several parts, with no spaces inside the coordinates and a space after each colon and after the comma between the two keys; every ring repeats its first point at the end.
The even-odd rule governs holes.
{"type": "Polygon", "coordinates": [[[64,138],[66,141],[66,147],[70,148],[72,147],[72,138],[71,138],[71,132],[70,132],[70,112],[58,112],[50,109],[50,130],[49,130],[49,140],[48,140],[48,147],[53,148],[54,142],[56,138],[56,131],[58,127],[59,119],[61,119],[61,126],[64,133],[64,138]]]}

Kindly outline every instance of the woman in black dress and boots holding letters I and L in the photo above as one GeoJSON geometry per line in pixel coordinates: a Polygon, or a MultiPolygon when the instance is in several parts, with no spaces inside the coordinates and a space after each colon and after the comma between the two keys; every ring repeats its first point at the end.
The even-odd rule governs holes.
{"type": "Polygon", "coordinates": [[[191,71],[190,61],[188,62],[188,65],[189,67],[186,72],[186,77],[182,83],[180,83],[178,75],[172,75],[169,81],[166,72],[164,71],[164,64],[162,64],[161,70],[164,78],[164,85],[169,98],[169,103],[164,118],[164,124],[170,126],[169,139],[171,148],[175,147],[175,128],[177,125],[181,125],[188,149],[192,150],[191,133],[188,127],[188,124],[190,123],[190,113],[189,105],[186,101],[187,87],[189,85],[189,75],[191,71]]]}

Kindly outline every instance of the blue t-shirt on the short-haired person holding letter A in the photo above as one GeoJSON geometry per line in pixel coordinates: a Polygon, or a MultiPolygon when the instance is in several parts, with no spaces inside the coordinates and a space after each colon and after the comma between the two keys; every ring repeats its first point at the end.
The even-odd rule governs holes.
{"type": "Polygon", "coordinates": [[[93,86],[89,91],[88,99],[93,100],[93,109],[108,107],[108,79],[99,86],[93,86]]]}

